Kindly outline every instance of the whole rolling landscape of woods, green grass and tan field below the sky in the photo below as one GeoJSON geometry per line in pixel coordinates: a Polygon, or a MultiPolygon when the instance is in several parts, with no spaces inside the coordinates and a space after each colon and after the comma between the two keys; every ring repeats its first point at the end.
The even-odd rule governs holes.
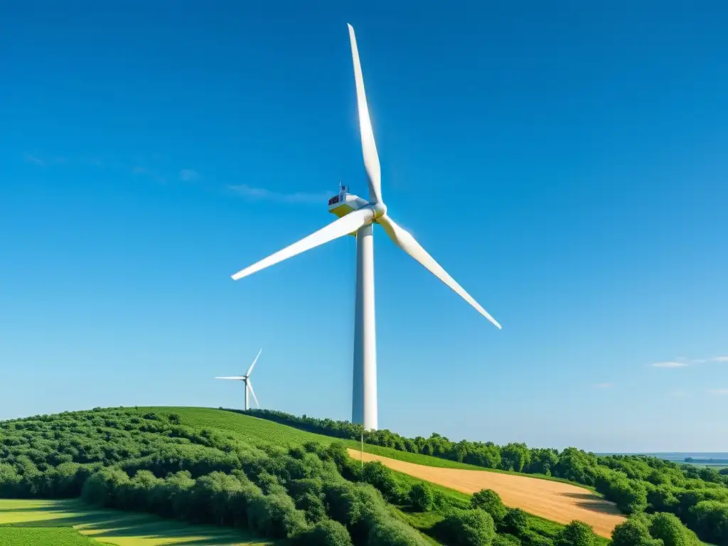
{"type": "MultiPolygon", "coordinates": [[[[337,438],[350,434],[346,427],[351,424],[321,422],[327,434],[239,411],[186,407],[95,408],[0,422],[0,497],[30,503],[5,505],[5,510],[0,505],[0,543],[14,545],[19,534],[28,533],[34,538],[23,546],[47,544],[58,533],[53,543],[69,546],[82,544],[79,540],[119,546],[563,546],[582,544],[569,533],[586,533],[591,538],[583,544],[607,545],[627,526],[647,541],[650,534],[654,538],[670,529],[682,542],[665,544],[688,546],[700,542],[676,515],[639,505],[634,494],[646,486],[669,494],[670,480],[683,480],[692,505],[700,501],[693,491],[723,498],[719,484],[686,478],[674,466],[664,475],[661,467],[634,458],[605,459],[604,464],[616,465],[606,470],[587,467],[598,478],[596,489],[618,492],[617,505],[622,502],[620,507],[636,515],[625,518],[594,488],[566,479],[563,467],[556,469],[558,477],[486,469],[448,459],[443,451],[435,451],[436,456],[407,451],[402,441],[389,443],[403,438],[389,431],[375,440],[396,448],[365,444],[362,455],[359,442],[337,438]],[[638,472],[644,469],[652,469],[650,480],[665,485],[658,489],[640,481],[638,472]],[[624,472],[635,472],[635,478],[624,472]],[[265,538],[251,538],[248,529],[265,538]],[[565,537],[571,538],[563,542],[565,537]]],[[[415,440],[449,441],[440,435],[415,440]]],[[[513,454],[511,446],[526,449],[523,444],[469,445],[496,454],[502,449],[504,461],[513,454]]],[[[596,463],[593,454],[575,448],[547,455],[558,457],[559,464],[570,461],[577,470],[596,463]]],[[[661,499],[653,495],[649,502],[661,499]]],[[[699,503],[697,508],[709,514],[721,505],[699,503]]],[[[689,522],[691,515],[692,509],[689,522]]],[[[695,521],[711,532],[708,520],[695,521]]],[[[644,542],[615,541],[620,546],[644,542]]]]}

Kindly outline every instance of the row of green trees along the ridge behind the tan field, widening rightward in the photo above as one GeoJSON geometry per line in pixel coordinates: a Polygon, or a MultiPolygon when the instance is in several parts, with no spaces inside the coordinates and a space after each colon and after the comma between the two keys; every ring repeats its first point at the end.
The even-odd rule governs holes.
{"type": "MultiPolygon", "coordinates": [[[[237,410],[232,410],[237,411],[237,410]]],[[[728,475],[705,467],[677,464],[652,456],[597,456],[577,448],[558,451],[525,443],[453,442],[433,433],[405,438],[389,430],[363,431],[345,421],[293,416],[281,411],[251,410],[261,419],[288,424],[336,438],[419,453],[497,470],[554,476],[593,486],[627,514],[672,513],[700,539],[728,546],[728,475]]]]}

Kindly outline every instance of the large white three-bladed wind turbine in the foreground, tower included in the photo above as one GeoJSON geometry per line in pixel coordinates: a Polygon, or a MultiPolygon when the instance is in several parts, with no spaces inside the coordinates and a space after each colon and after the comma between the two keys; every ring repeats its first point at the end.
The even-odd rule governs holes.
{"type": "Polygon", "coordinates": [[[459,294],[465,301],[475,307],[498,328],[501,326],[468,294],[462,286],[445,271],[445,269],[427,253],[422,246],[405,229],[395,223],[387,215],[387,205],[381,197],[381,168],[379,156],[369,119],[369,110],[364,92],[364,79],[359,62],[359,52],[354,28],[349,25],[349,41],[352,46],[354,61],[354,80],[357,90],[357,107],[359,110],[359,131],[362,141],[364,167],[369,186],[369,199],[363,199],[347,193],[342,186],[339,195],[329,199],[329,211],[339,219],[319,229],[317,232],[294,242],[277,253],[256,262],[232,275],[234,280],[248,277],[268,266],[296,256],[325,242],[329,242],[347,234],[357,237],[357,283],[356,306],[354,316],[354,378],[352,388],[352,423],[363,424],[366,430],[377,428],[376,402],[376,332],[374,327],[374,253],[373,223],[379,223],[389,238],[399,248],[419,261],[435,277],[459,294]]]}

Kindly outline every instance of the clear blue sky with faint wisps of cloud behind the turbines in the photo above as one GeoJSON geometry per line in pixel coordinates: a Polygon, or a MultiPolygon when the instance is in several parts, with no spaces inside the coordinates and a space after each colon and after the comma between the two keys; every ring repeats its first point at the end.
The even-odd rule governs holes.
{"type": "Polygon", "coordinates": [[[390,214],[503,325],[375,230],[380,426],[728,451],[725,5],[253,4],[0,8],[0,418],[239,407],[263,346],[349,419],[353,238],[230,279],[365,195],[348,22],[390,214]]]}

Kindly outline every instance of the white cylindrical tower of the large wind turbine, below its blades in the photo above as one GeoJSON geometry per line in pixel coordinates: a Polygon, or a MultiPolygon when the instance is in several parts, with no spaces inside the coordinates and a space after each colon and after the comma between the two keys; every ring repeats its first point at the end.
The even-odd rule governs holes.
{"type": "Polygon", "coordinates": [[[374,325],[374,239],[371,224],[357,231],[357,288],[354,317],[352,423],[377,429],[376,329],[374,325]]]}

